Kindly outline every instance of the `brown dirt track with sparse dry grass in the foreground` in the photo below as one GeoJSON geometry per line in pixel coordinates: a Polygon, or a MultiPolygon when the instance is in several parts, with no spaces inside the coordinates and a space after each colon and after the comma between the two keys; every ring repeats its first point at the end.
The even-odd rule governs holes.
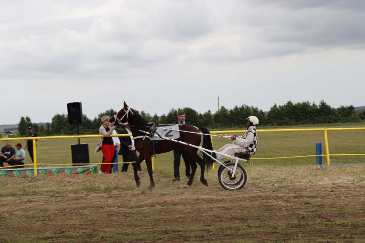
{"type": "Polygon", "coordinates": [[[365,242],[363,183],[157,181],[152,192],[3,197],[0,242],[365,242]]]}

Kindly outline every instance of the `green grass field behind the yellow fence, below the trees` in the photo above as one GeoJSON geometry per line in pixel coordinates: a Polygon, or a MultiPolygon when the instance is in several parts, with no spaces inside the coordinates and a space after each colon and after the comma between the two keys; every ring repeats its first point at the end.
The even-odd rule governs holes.
{"type": "MultiPolygon", "coordinates": [[[[335,126],[336,128],[339,126],[335,126]]],[[[365,127],[365,124],[351,124],[341,128],[347,127],[365,127]]],[[[286,127],[285,129],[298,128],[298,127],[286,127]]],[[[308,126],[302,126],[300,128],[309,128],[308,126]]],[[[310,127],[314,128],[314,127],[310,127]]],[[[320,127],[323,128],[323,127],[320,127]]],[[[260,128],[260,129],[267,129],[260,128]]],[[[272,129],[269,128],[268,129],[272,129]]],[[[280,129],[283,129],[282,127],[280,129]]],[[[237,128],[232,129],[237,130],[237,128]]],[[[355,131],[329,131],[329,149],[330,154],[361,154],[365,151],[365,130],[355,131]]],[[[322,143],[322,153],[325,153],[324,149],[324,133],[322,131],[315,132],[279,132],[279,133],[259,133],[259,149],[257,154],[252,156],[256,165],[313,165],[315,163],[315,157],[307,158],[287,158],[287,159],[262,159],[267,157],[285,157],[285,156],[300,156],[300,155],[315,155],[315,143],[322,143]]],[[[94,153],[94,148],[98,143],[99,138],[81,138],[81,143],[89,144],[89,155],[91,163],[101,162],[101,153],[94,153]]],[[[18,141],[12,141],[13,144],[18,141]]],[[[19,140],[25,145],[25,140],[19,140]]],[[[230,143],[231,140],[224,138],[213,137],[213,147],[219,148],[225,143],[230,143]]],[[[5,141],[2,141],[5,145],[5,141]]],[[[49,139],[39,140],[37,142],[37,158],[38,163],[69,163],[71,164],[71,144],[78,143],[77,139],[49,139]]],[[[0,144],[1,145],[1,144],[0,144]]],[[[121,158],[120,158],[121,160],[121,158]]],[[[156,159],[156,170],[165,174],[166,176],[172,176],[171,163],[173,160],[172,152],[160,154],[156,159]]],[[[323,157],[325,163],[325,157],[323,157]]],[[[332,163],[344,163],[344,164],[363,164],[365,163],[365,156],[333,156],[331,157],[332,163]]],[[[31,163],[30,158],[27,159],[27,163],[31,163]]],[[[26,163],[26,164],[27,164],[26,163]]]]}

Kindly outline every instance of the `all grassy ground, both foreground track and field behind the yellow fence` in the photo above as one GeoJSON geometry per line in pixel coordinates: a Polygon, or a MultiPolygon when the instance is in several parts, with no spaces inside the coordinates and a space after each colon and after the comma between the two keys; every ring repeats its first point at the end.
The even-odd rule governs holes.
{"type": "MultiPolygon", "coordinates": [[[[100,162],[98,139],[81,142],[100,162]]],[[[214,148],[226,142],[214,139],[214,148]]],[[[253,157],[315,154],[316,142],[322,132],[259,133],[253,157]]],[[[71,163],[74,143],[40,140],[39,163],[71,163]]],[[[364,132],[329,132],[329,143],[332,154],[363,153],[364,132]]],[[[216,170],[209,187],[196,176],[186,189],[185,179],[171,181],[172,160],[157,155],[152,192],[144,165],[140,188],[131,172],[0,178],[0,242],[365,242],[362,156],[331,157],[361,165],[330,167],[314,157],[255,159],[242,163],[248,179],[238,191],[224,190],[216,170]]]]}

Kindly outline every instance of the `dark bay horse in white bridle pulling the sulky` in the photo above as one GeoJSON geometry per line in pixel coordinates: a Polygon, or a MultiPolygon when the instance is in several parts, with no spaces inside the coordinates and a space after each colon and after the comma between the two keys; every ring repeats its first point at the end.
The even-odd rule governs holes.
{"type": "MultiPolygon", "coordinates": [[[[151,124],[148,124],[147,121],[145,121],[135,110],[128,107],[128,105],[124,102],[124,108],[121,109],[115,117],[113,117],[116,121],[118,121],[120,124],[128,123],[130,125],[130,129],[132,132],[132,136],[136,138],[134,140],[134,146],[136,150],[139,152],[138,159],[136,163],[133,163],[133,171],[134,171],[134,179],[136,181],[137,187],[140,185],[140,179],[137,174],[137,165],[139,165],[143,159],[146,161],[147,170],[150,175],[150,187],[149,190],[152,190],[152,188],[155,187],[155,182],[153,180],[152,176],[152,156],[154,155],[153,146],[152,143],[154,141],[149,139],[149,136],[145,136],[146,134],[141,131],[148,132],[151,128],[151,124]],[[145,138],[143,139],[142,137],[145,138]],[[139,137],[139,138],[137,138],[139,137]]],[[[111,119],[113,121],[114,119],[111,119]]],[[[196,128],[191,125],[178,125],[180,131],[188,131],[188,132],[194,132],[194,133],[186,133],[186,132],[180,132],[180,137],[176,140],[181,142],[186,142],[195,146],[199,146],[201,142],[201,135],[199,134],[199,131],[201,131],[204,134],[209,134],[209,131],[206,128],[196,128]]],[[[178,148],[182,146],[182,150],[185,152],[185,156],[188,159],[192,172],[191,176],[189,178],[189,181],[187,183],[187,186],[191,186],[193,183],[195,171],[197,169],[196,163],[200,166],[200,181],[208,186],[208,183],[206,179],[204,178],[204,170],[205,166],[210,168],[212,166],[212,159],[205,153],[203,153],[203,158],[201,158],[197,151],[197,148],[190,147],[188,145],[179,144],[177,142],[168,141],[168,140],[162,140],[158,141],[158,143],[154,144],[155,154],[159,153],[166,153],[168,151],[171,151],[175,148],[178,148]]],[[[212,150],[213,146],[211,143],[211,139],[209,135],[203,135],[203,148],[212,150]]]]}

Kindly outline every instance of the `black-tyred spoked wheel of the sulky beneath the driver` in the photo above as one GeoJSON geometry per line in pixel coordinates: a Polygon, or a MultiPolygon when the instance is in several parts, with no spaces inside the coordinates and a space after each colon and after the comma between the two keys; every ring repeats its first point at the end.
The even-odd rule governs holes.
{"type": "MultiPolygon", "coordinates": [[[[230,162],[225,165],[229,169],[233,170],[235,163],[230,162]]],[[[222,166],[218,170],[218,181],[221,184],[221,186],[223,188],[225,188],[226,190],[241,189],[246,184],[246,180],[247,180],[246,171],[243,169],[243,167],[240,164],[237,164],[235,174],[232,175],[232,171],[230,171],[226,167],[222,166]]]]}

